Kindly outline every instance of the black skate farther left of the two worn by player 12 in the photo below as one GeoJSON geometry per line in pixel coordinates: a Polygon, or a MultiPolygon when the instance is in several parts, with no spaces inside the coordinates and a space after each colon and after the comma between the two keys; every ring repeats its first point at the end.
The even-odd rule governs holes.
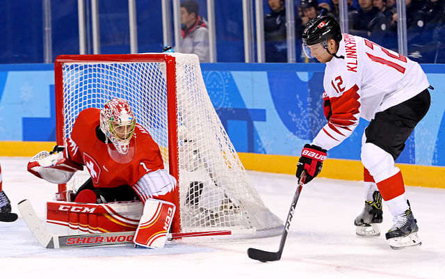
{"type": "Polygon", "coordinates": [[[383,221],[382,196],[379,191],[373,193],[373,201],[365,200],[362,213],[355,218],[355,233],[362,237],[380,236],[383,221]]]}

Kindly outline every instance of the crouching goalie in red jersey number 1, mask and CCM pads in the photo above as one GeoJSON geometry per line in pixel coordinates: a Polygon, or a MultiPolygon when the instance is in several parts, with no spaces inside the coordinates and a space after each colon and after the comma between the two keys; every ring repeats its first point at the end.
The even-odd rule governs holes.
{"type": "Polygon", "coordinates": [[[64,148],[40,152],[29,172],[65,183],[77,170],[90,178],[73,202],[48,202],[47,223],[65,233],[136,231],[138,246],[162,248],[175,214],[177,181],[164,169],[159,146],[136,122],[129,102],[79,113],[64,148]]]}

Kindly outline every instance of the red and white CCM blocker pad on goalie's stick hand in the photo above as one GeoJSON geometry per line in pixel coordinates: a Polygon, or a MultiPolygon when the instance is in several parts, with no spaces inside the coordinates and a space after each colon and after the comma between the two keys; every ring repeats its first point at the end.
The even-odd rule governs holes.
{"type": "Polygon", "coordinates": [[[163,248],[175,209],[171,202],[147,199],[133,243],[147,248],[163,248]]]}

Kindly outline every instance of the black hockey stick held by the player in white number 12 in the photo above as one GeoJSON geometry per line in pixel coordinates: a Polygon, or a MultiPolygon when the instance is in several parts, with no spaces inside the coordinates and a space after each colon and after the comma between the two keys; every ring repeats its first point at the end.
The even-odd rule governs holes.
{"type": "Polygon", "coordinates": [[[300,197],[300,192],[306,180],[306,171],[303,171],[300,180],[298,180],[298,186],[293,196],[291,208],[287,214],[286,223],[284,224],[284,230],[281,235],[280,247],[277,252],[268,252],[264,250],[259,250],[255,248],[248,248],[248,256],[253,260],[259,260],[260,262],[273,262],[281,259],[281,254],[283,253],[284,243],[286,243],[287,233],[289,232],[289,227],[291,226],[291,221],[293,213],[295,212],[295,207],[300,197]]]}

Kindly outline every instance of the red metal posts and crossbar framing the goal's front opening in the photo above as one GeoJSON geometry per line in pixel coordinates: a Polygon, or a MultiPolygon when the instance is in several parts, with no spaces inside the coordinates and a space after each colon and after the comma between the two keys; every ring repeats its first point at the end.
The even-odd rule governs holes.
{"type": "MultiPolygon", "coordinates": [[[[176,96],[176,59],[168,54],[86,54],[60,55],[54,62],[56,93],[56,143],[65,145],[63,138],[65,118],[63,113],[63,64],[76,62],[164,62],[166,65],[167,118],[168,118],[168,164],[170,175],[179,184],[178,137],[177,137],[177,96],[176,96]]],[[[58,193],[66,191],[66,184],[58,184],[58,193]]],[[[179,218],[179,187],[174,193],[175,217],[172,221],[172,232],[181,230],[179,218]]]]}

